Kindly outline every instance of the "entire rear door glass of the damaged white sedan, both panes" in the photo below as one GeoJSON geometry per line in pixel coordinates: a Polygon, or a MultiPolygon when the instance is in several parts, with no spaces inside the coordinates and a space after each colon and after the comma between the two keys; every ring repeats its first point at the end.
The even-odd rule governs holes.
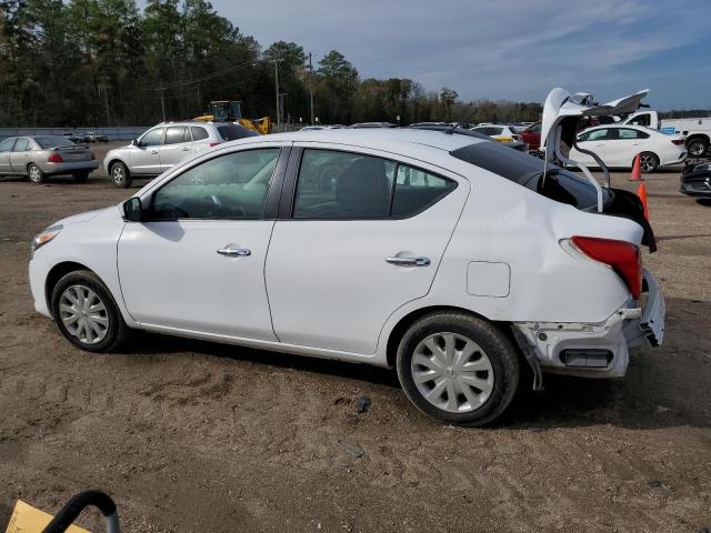
{"type": "Polygon", "coordinates": [[[408,218],[444,198],[457,183],[382,158],[306,150],[296,219],[408,218]]]}

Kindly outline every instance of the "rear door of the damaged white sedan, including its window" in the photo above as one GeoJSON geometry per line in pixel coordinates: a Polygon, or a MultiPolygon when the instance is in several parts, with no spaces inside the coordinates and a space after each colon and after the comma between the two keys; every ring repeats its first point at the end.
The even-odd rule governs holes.
{"type": "Polygon", "coordinates": [[[388,316],[430,290],[469,182],[372,150],[318,147],[303,149],[298,178],[287,179],[269,245],[274,332],[289,344],[372,354],[388,316]]]}

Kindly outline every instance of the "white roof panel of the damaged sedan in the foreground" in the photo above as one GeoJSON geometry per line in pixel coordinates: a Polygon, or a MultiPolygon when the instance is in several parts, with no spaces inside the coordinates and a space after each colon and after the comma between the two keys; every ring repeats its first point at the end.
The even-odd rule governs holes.
{"type": "Polygon", "coordinates": [[[450,134],[443,131],[432,131],[419,128],[364,128],[336,130],[307,130],[289,133],[274,133],[269,140],[276,141],[310,141],[351,144],[362,148],[388,149],[400,145],[408,151],[417,147],[429,147],[451,152],[477,142],[490,142],[467,134],[450,134]]]}

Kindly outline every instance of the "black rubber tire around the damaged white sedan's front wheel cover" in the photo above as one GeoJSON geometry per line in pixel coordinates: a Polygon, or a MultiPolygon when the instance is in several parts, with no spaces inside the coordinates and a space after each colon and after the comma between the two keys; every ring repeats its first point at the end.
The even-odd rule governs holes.
{"type": "MultiPolygon", "coordinates": [[[[89,300],[90,302],[96,302],[96,299],[89,300]]],[[[77,309],[84,309],[83,319],[77,320],[74,323],[81,324],[82,320],[87,320],[87,313],[90,313],[86,308],[81,308],[80,305],[77,309]]],[[[119,346],[128,336],[128,326],[123,321],[123,316],[121,316],[121,312],[119,311],[111,292],[103,282],[99,279],[97,274],[91,272],[90,270],[77,270],[74,272],[69,272],[64,274],[57,284],[52,288],[52,300],[51,300],[51,310],[52,316],[54,318],[54,323],[59,328],[59,331],[71,342],[73,345],[86,350],[88,352],[110,352],[119,346]],[[102,321],[106,321],[106,332],[101,339],[93,329],[90,329],[88,325],[77,326],[73,324],[64,323],[62,320],[63,316],[71,316],[71,314],[67,313],[64,310],[67,309],[64,305],[67,303],[71,303],[69,300],[69,294],[66,291],[69,291],[69,294],[73,294],[74,296],[78,294],[77,291],[86,291],[86,294],[89,295],[93,293],[99,302],[103,304],[103,310],[97,311],[94,314],[99,316],[102,321]],[[62,304],[62,309],[60,309],[60,304],[62,304]],[[70,328],[76,331],[70,331],[70,328]],[[89,334],[87,330],[91,330],[91,334],[96,335],[94,341],[91,342],[89,339],[89,334]],[[81,339],[82,332],[84,334],[84,340],[81,339]]],[[[81,314],[78,313],[78,314],[81,314]]],[[[91,315],[90,314],[90,315],[91,315]]]]}

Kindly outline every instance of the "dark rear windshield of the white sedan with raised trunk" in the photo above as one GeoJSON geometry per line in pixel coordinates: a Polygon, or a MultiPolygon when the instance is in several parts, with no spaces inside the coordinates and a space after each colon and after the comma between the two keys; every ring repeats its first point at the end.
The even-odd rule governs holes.
{"type": "MultiPolygon", "coordinates": [[[[545,181],[543,160],[512,150],[501,143],[478,142],[450,152],[457,159],[482,168],[551,200],[593,210],[598,205],[595,188],[587,179],[552,163],[548,164],[545,181]]],[[[609,189],[602,190],[603,204],[612,199],[609,189]]]]}

